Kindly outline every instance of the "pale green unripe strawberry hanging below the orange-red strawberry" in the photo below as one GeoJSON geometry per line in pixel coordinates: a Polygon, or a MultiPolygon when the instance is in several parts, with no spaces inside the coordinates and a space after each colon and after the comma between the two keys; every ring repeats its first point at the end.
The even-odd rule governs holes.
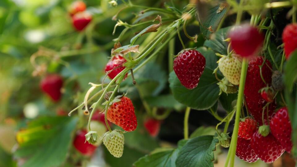
{"type": "Polygon", "coordinates": [[[114,157],[121,157],[124,150],[124,135],[121,131],[108,131],[102,136],[103,144],[114,157]]]}

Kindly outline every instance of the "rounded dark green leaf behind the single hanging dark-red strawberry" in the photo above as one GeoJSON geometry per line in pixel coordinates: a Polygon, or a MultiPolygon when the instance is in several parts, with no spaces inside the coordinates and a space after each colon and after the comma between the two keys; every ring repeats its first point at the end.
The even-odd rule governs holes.
{"type": "Polygon", "coordinates": [[[187,89],[172,71],[169,76],[169,83],[174,98],[192,109],[209,109],[217,102],[220,92],[217,80],[212,73],[211,69],[205,67],[198,86],[194,89],[187,89]]]}

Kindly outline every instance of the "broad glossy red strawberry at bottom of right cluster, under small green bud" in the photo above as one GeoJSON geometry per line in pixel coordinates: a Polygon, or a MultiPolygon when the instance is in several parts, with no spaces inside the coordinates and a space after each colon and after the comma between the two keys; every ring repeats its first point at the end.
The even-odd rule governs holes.
{"type": "Polygon", "coordinates": [[[264,137],[258,132],[255,132],[251,139],[251,145],[260,160],[265,163],[272,163],[285,151],[271,133],[264,137]]]}

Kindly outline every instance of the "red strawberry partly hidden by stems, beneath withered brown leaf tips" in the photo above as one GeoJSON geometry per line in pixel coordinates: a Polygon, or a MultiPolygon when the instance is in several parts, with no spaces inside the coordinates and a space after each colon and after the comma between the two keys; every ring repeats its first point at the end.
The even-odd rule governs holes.
{"type": "MultiPolygon", "coordinates": [[[[107,71],[111,71],[108,76],[110,79],[114,79],[115,76],[118,75],[118,73],[120,73],[121,71],[123,71],[126,67],[123,66],[123,64],[127,62],[127,60],[125,58],[123,58],[123,56],[117,54],[114,55],[109,62],[106,64],[105,66],[105,72],[107,71]],[[121,67],[118,67],[121,66],[121,67]],[[117,68],[118,67],[118,68],[117,68]]],[[[124,79],[127,78],[127,75],[125,75],[124,79]]]]}

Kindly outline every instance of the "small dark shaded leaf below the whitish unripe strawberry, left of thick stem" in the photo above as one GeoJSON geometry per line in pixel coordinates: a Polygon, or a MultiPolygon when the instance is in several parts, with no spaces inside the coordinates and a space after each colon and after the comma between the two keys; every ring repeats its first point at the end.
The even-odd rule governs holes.
{"type": "Polygon", "coordinates": [[[236,100],[237,100],[237,93],[232,93],[232,94],[229,93],[228,95],[226,93],[222,93],[219,98],[219,101],[222,107],[228,113],[230,113],[234,109],[234,106],[236,105],[236,103],[234,103],[233,101],[236,101],[236,100]]]}

